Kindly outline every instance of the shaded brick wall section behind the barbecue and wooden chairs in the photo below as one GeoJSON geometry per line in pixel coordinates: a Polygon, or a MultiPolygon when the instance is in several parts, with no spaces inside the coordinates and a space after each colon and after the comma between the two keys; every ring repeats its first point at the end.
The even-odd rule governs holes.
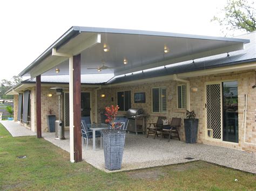
{"type": "MultiPolygon", "coordinates": [[[[156,83],[144,83],[144,84],[136,84],[134,86],[122,86],[122,87],[111,87],[111,88],[102,88],[98,91],[98,97],[100,94],[105,94],[105,98],[99,98],[98,105],[99,108],[104,108],[109,105],[117,104],[117,91],[131,90],[131,107],[132,108],[143,108],[144,114],[146,117],[147,123],[156,123],[158,116],[166,116],[169,121],[171,121],[172,117],[181,117],[184,118],[186,114],[186,110],[177,109],[177,86],[180,84],[184,84],[182,82],[177,81],[164,81],[164,82],[156,82],[156,83]],[[169,100],[167,98],[167,111],[165,113],[155,113],[152,112],[152,95],[151,91],[154,87],[166,87],[167,97],[172,95],[172,99],[169,100]],[[146,95],[146,103],[134,103],[134,93],[145,92],[146,95]],[[113,97],[113,101],[111,98],[113,97]]],[[[119,111],[119,115],[125,115],[126,112],[119,111]]],[[[98,121],[100,121],[100,116],[98,116],[98,121]]],[[[179,129],[179,135],[181,140],[185,140],[184,134],[184,124],[181,122],[181,128],[179,129]]]]}

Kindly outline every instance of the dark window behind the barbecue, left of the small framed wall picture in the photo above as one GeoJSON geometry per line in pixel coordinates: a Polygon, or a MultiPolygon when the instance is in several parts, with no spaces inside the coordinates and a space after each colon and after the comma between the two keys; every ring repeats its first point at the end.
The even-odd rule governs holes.
{"type": "Polygon", "coordinates": [[[118,91],[117,104],[119,111],[127,111],[131,108],[131,91],[118,91]]]}

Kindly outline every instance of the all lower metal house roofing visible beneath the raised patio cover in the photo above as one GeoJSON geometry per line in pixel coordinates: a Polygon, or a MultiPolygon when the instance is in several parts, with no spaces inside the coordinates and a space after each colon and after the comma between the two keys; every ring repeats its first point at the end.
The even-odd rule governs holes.
{"type": "MultiPolygon", "coordinates": [[[[250,43],[245,44],[245,48],[240,51],[235,51],[225,54],[218,54],[208,56],[185,62],[173,63],[166,65],[165,67],[156,67],[147,70],[134,72],[133,74],[126,74],[120,76],[114,76],[114,74],[82,74],[82,84],[114,84],[121,82],[128,82],[140,79],[147,79],[150,77],[158,77],[171,74],[180,74],[186,72],[192,72],[196,70],[211,69],[224,66],[238,65],[241,63],[248,63],[256,61],[256,32],[244,34],[239,36],[241,39],[250,39],[250,43]]],[[[36,79],[28,79],[22,83],[35,83],[36,79]]],[[[69,83],[69,75],[48,75],[41,76],[42,83],[69,83]]]]}

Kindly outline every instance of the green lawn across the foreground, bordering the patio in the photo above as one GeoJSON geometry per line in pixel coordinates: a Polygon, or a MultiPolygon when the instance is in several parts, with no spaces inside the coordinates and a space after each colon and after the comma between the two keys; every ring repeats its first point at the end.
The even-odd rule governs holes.
{"type": "Polygon", "coordinates": [[[255,175],[203,161],[105,173],[36,137],[11,137],[0,124],[0,190],[255,190],[255,175]],[[17,159],[26,155],[26,159],[17,159]],[[238,179],[238,181],[234,181],[238,179]]]}

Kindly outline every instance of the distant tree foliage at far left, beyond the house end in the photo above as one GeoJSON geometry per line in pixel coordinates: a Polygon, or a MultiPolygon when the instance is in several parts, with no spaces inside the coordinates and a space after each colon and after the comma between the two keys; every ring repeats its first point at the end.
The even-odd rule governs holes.
{"type": "Polygon", "coordinates": [[[19,82],[22,81],[22,77],[21,76],[13,76],[12,79],[9,80],[1,80],[0,82],[0,98],[2,99],[12,99],[13,96],[12,95],[5,95],[5,92],[9,89],[11,89],[12,87],[14,87],[16,84],[18,84],[19,82]]]}

